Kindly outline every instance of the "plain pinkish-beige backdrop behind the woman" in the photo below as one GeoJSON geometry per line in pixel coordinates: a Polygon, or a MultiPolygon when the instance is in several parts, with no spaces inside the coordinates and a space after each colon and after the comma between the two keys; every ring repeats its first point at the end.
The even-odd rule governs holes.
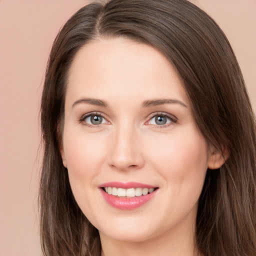
{"type": "MultiPolygon", "coordinates": [[[[256,109],[256,0],[191,0],[227,35],[256,109]]],[[[39,102],[52,41],[86,0],[0,0],[0,256],[39,256],[39,102]]]]}

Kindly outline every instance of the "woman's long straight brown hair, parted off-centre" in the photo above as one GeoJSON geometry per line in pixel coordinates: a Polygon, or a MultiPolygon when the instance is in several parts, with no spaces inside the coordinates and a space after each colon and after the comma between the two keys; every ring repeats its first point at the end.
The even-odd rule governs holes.
{"type": "Polygon", "coordinates": [[[195,243],[205,256],[256,252],[256,129],[234,53],[218,25],[186,0],[110,0],[78,10],[58,33],[41,99],[44,142],[39,203],[44,255],[100,255],[98,231],[72,195],[59,153],[66,77],[77,51],[98,37],[152,45],[176,69],[206,140],[229,158],[207,170],[195,243]]]}

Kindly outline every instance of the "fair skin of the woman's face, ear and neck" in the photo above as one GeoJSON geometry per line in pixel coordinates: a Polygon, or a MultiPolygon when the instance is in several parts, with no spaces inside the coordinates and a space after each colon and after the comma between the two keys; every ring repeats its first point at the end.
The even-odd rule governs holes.
{"type": "Polygon", "coordinates": [[[102,255],[194,255],[205,173],[224,160],[198,130],[187,94],[160,52],[124,38],[94,40],[78,51],[67,82],[61,155],[79,207],[99,230],[102,255]],[[143,106],[155,99],[172,101],[143,106]],[[102,123],[84,118],[90,112],[102,115],[102,123]],[[156,124],[155,115],[168,115],[167,123],[156,124]],[[110,181],[158,190],[140,207],[121,210],[98,188],[110,181]]]}

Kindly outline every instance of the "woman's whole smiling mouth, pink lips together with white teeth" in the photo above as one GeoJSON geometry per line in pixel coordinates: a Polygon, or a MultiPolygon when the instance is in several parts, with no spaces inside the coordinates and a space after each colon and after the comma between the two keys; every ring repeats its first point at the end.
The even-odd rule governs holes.
{"type": "Polygon", "coordinates": [[[159,187],[137,182],[108,182],[101,184],[101,194],[111,206],[132,210],[154,197],[159,187]]]}

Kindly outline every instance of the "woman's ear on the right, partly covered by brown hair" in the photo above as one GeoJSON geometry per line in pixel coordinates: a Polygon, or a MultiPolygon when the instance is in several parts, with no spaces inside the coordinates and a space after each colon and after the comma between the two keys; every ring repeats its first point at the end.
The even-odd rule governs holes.
{"type": "Polygon", "coordinates": [[[208,157],[208,168],[218,169],[229,157],[229,150],[226,146],[221,146],[221,149],[217,149],[214,146],[210,146],[208,157]]]}

